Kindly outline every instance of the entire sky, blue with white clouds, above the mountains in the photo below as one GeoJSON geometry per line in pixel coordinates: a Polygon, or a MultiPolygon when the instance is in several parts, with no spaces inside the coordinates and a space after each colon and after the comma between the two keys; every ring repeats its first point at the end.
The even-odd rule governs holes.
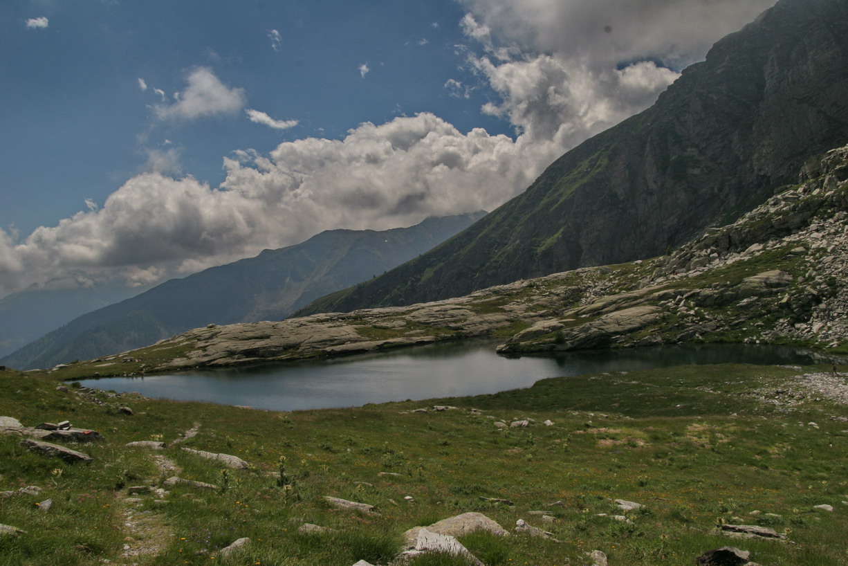
{"type": "Polygon", "coordinates": [[[7,0],[0,297],[492,210],[771,3],[7,0]]]}

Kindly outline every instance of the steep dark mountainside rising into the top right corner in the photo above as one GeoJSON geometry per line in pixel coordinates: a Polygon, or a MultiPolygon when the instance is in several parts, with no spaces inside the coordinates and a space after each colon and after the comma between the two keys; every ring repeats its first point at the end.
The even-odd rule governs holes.
{"type": "Polygon", "coordinates": [[[643,113],[589,139],[516,199],[383,277],[298,315],[409,305],[663,253],[761,204],[848,142],[848,5],[781,0],[643,113]]]}

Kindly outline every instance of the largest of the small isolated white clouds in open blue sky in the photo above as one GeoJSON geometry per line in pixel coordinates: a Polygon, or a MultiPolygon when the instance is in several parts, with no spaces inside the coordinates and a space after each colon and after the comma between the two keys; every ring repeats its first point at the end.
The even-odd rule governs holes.
{"type": "Polygon", "coordinates": [[[204,116],[232,115],[246,104],[244,89],[227,87],[209,67],[192,70],[186,80],[188,86],[174,94],[174,104],[156,107],[159,118],[192,120],[204,116]]]}

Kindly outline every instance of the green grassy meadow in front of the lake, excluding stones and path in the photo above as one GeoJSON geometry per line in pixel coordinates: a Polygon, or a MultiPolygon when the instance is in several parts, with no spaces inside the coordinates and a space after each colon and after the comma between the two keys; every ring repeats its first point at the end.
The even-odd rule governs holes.
{"type": "MultiPolygon", "coordinates": [[[[495,395],[283,413],[108,393],[96,396],[98,404],[77,389],[56,389],[53,377],[3,372],[0,414],[28,425],[67,418],[107,440],[78,446],[94,457],[81,466],[0,436],[0,490],[43,488],[39,496],[0,498],[0,524],[27,531],[0,538],[0,564],[121,563],[125,538],[133,536],[123,526],[126,487],[165,479],[152,451],[124,445],[174,440],[193,423],[199,434],[180,446],[234,454],[251,468],[227,470],[180,446],[161,452],[182,468],[181,477],[219,489],[177,485],[161,502],[141,496],[163,552],[139,563],[218,563],[221,548],[248,536],[251,544],[227,563],[385,564],[405,530],[478,511],[509,530],[523,518],[562,541],[462,537],[490,566],[589,564],[584,552],[594,549],[610,563],[693,563],[728,544],[762,564],[845,564],[848,411],[816,397],[773,403],[773,392],[793,387],[796,373],[687,366],[544,379],[495,395]],[[432,404],[459,408],[410,412],[432,404]],[[135,414],[118,412],[120,405],[135,414]],[[526,429],[493,425],[525,417],[535,421],[526,429]],[[334,510],[323,496],[369,503],[378,513],[334,510]],[[44,512],[36,502],[48,497],[53,507],[44,512]],[[644,504],[627,513],[632,524],[609,517],[621,513],[616,498],[644,504]],[[554,502],[562,505],[550,507],[554,502]],[[820,503],[834,512],[813,508],[820,503]],[[538,510],[555,522],[528,513],[538,510]],[[762,513],[751,515],[755,510],[762,513]],[[711,533],[721,522],[786,530],[795,544],[728,540],[711,533]],[[304,523],[338,532],[299,534],[304,523]]],[[[466,562],[413,562],[436,563],[466,562]]]]}

